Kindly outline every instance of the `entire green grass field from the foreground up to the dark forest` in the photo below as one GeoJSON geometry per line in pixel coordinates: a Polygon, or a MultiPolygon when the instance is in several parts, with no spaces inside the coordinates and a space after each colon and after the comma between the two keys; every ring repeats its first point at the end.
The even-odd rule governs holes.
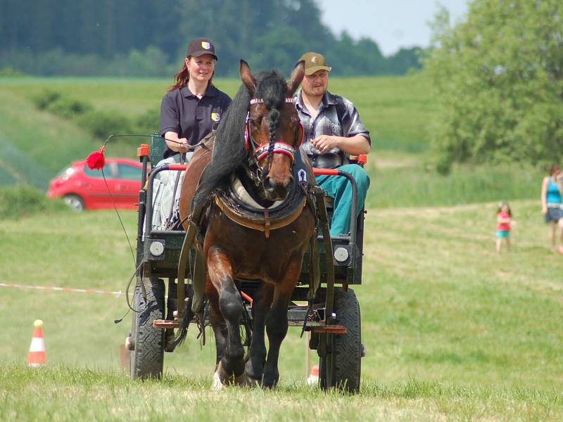
{"type": "MultiPolygon", "coordinates": [[[[44,188],[101,143],[36,110],[37,92],[61,90],[135,116],[158,107],[169,83],[0,79],[0,185],[44,188]]],[[[234,94],[239,83],[217,85],[234,94]]],[[[561,420],[563,262],[548,248],[541,172],[502,165],[436,174],[427,147],[434,108],[422,75],[334,78],[331,89],[355,102],[374,141],[364,283],[355,288],[367,347],[360,394],[305,385],[296,328],[282,345],[275,391],[211,393],[213,338],[202,347],[193,330],[165,355],[163,381],[132,383],[120,368],[131,317],[113,322],[127,310],[123,296],[0,287],[0,420],[561,420]],[[500,256],[499,200],[510,200],[518,221],[512,251],[500,256]],[[49,359],[39,371],[25,367],[34,319],[44,321],[49,359]]],[[[76,215],[1,195],[8,200],[0,205],[0,239],[8,248],[0,283],[125,290],[134,262],[115,212],[76,215]]],[[[137,215],[121,215],[134,241],[137,215]]]]}

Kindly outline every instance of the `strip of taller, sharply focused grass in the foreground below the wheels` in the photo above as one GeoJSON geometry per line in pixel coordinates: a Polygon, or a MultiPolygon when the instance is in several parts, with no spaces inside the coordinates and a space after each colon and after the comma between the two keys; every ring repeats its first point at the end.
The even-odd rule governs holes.
{"type": "Polygon", "coordinates": [[[327,394],[303,382],[276,390],[210,391],[201,378],[130,382],[118,372],[8,366],[0,374],[3,420],[436,421],[557,420],[558,392],[448,387],[409,379],[366,383],[360,394],[327,394]],[[30,400],[30,397],[33,397],[30,400]]]}

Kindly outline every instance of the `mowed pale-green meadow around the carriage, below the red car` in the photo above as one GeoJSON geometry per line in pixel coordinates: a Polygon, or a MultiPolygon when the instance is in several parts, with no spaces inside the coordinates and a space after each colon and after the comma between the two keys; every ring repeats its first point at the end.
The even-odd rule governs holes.
{"type": "MultiPolygon", "coordinates": [[[[163,381],[130,383],[119,365],[130,317],[113,324],[123,298],[0,288],[9,311],[0,411],[23,419],[559,420],[563,262],[549,252],[537,202],[512,203],[513,248],[501,255],[495,203],[369,210],[364,283],[355,287],[367,347],[358,396],[304,385],[296,329],[282,346],[274,392],[209,392],[213,338],[200,348],[194,331],[165,355],[163,381]],[[37,318],[49,366],[30,371],[23,364],[37,318]]],[[[134,238],[135,213],[122,217],[134,238]]],[[[3,282],[124,290],[133,270],[113,212],[4,221],[0,236],[11,245],[0,257],[3,282]]]]}

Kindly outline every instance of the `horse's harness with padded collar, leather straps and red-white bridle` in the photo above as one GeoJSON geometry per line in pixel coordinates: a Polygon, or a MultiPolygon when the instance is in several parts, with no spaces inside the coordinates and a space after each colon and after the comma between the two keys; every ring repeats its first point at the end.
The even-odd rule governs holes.
{"type": "MultiPolygon", "coordinates": [[[[263,102],[262,98],[252,98],[250,105],[252,106],[263,102]]],[[[295,100],[290,97],[286,98],[285,102],[295,103],[295,100]]],[[[224,215],[233,222],[250,229],[263,231],[266,238],[270,238],[271,230],[279,229],[294,222],[301,215],[301,212],[303,212],[303,208],[308,206],[315,218],[315,226],[317,226],[324,234],[325,248],[327,248],[327,250],[331,250],[330,235],[328,233],[328,218],[326,209],[324,208],[322,188],[315,185],[314,178],[313,180],[308,179],[307,166],[305,165],[305,162],[303,162],[301,150],[298,149],[303,142],[303,125],[301,122],[298,124],[298,131],[296,132],[296,149],[289,143],[275,142],[274,136],[270,136],[269,143],[258,143],[255,139],[253,139],[250,122],[250,111],[248,111],[244,141],[246,151],[250,153],[251,148],[253,149],[251,160],[248,168],[246,169],[246,173],[251,180],[253,180],[257,185],[261,183],[265,175],[267,175],[270,170],[271,155],[273,153],[283,153],[288,155],[292,160],[291,170],[296,183],[286,200],[279,201],[281,203],[274,203],[272,209],[269,210],[269,207],[262,207],[258,203],[255,203],[255,201],[248,200],[248,193],[245,195],[243,191],[241,191],[241,183],[239,179],[236,176],[233,176],[231,178],[229,188],[215,194],[215,204],[220,208],[220,210],[222,210],[224,215]],[[265,155],[268,155],[269,158],[267,160],[267,168],[263,169],[260,165],[258,165],[258,162],[262,160],[265,155]],[[251,167],[255,167],[255,170],[251,170],[251,167]]],[[[188,319],[190,318],[190,313],[196,314],[196,316],[203,321],[201,311],[203,309],[205,269],[203,268],[203,255],[201,255],[203,252],[201,250],[201,245],[203,244],[201,236],[201,222],[203,221],[204,216],[205,210],[203,210],[203,208],[200,210],[192,210],[192,214],[188,220],[189,226],[186,231],[182,251],[180,252],[179,257],[177,298],[178,303],[180,304],[184,302],[185,298],[184,279],[186,265],[188,264],[190,255],[189,250],[191,249],[191,245],[196,247],[196,257],[194,257],[196,265],[195,267],[190,265],[190,267],[192,267],[192,283],[194,285],[194,295],[191,298],[191,309],[189,309],[189,305],[186,306],[185,311],[182,309],[182,306],[179,306],[178,308],[178,316],[179,318],[184,319],[184,322],[186,316],[188,319]]],[[[312,236],[310,241],[310,266],[312,271],[308,299],[311,303],[315,297],[317,288],[320,286],[319,251],[316,240],[317,236],[312,236]]],[[[332,257],[331,254],[329,254],[329,257],[332,257]]],[[[334,275],[332,279],[334,280],[334,275]]],[[[182,331],[184,331],[184,335],[186,328],[187,326],[182,329],[182,331]]],[[[178,333],[177,338],[182,338],[182,334],[178,333]]]]}

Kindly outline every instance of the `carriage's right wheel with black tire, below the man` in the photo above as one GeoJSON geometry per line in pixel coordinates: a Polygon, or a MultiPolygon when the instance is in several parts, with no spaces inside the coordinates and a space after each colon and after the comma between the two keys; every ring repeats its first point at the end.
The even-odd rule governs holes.
{"type": "Polygon", "coordinates": [[[362,330],[360,304],[354,290],[334,291],[335,324],[346,326],[342,335],[327,335],[327,354],[320,357],[319,383],[323,390],[338,388],[348,392],[360,391],[362,366],[362,330]]]}

